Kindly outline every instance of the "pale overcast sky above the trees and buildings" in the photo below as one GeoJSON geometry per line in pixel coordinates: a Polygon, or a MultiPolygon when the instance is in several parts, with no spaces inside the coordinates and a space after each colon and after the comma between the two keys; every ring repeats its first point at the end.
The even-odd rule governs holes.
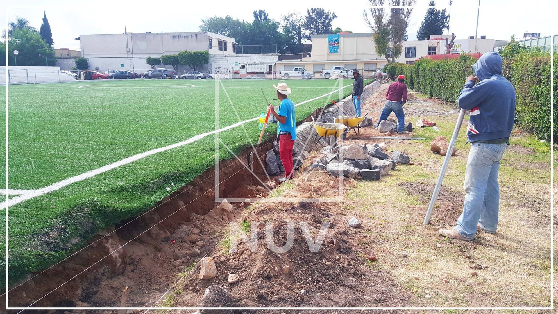
{"type": "MultiPolygon", "coordinates": [[[[79,50],[80,34],[117,34],[124,32],[191,32],[198,31],[201,19],[210,16],[230,15],[252,21],[252,12],[265,9],[270,18],[280,20],[281,15],[299,11],[306,13],[310,7],[322,7],[334,11],[338,18],[333,28],[353,32],[369,32],[363,20],[363,9],[368,0],[238,0],[238,1],[164,1],[159,9],[152,8],[152,1],[116,3],[116,1],[81,0],[79,3],[56,0],[26,0],[25,6],[14,1],[7,7],[10,21],[16,16],[25,17],[32,26],[41,26],[43,11],[49,19],[55,48],[79,50]],[[302,6],[300,5],[302,4],[302,6]]],[[[430,0],[417,0],[413,9],[409,40],[416,40],[416,33],[424,18],[430,0]]],[[[449,0],[436,1],[436,7],[449,11],[449,0]]],[[[508,40],[513,34],[522,37],[524,32],[540,32],[541,36],[556,33],[554,23],[556,4],[552,0],[506,1],[481,0],[478,35],[497,40],[508,40]],[[555,6],[551,8],[550,6],[555,6]],[[554,31],[553,31],[554,29],[554,31]]],[[[477,0],[454,0],[451,6],[450,32],[457,39],[475,35],[477,0]]],[[[0,25],[6,28],[6,16],[0,16],[0,25]]]]}

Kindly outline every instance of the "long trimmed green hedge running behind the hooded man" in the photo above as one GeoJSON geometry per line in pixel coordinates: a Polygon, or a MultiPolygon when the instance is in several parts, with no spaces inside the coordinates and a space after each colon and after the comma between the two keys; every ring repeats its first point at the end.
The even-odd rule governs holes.
{"type": "MultiPolygon", "coordinates": [[[[458,59],[421,59],[414,65],[388,66],[387,70],[395,68],[395,75],[405,75],[407,86],[417,92],[456,102],[465,79],[474,75],[472,65],[476,61],[464,54],[458,59]]],[[[504,59],[503,75],[516,89],[516,124],[540,139],[549,140],[550,54],[523,51],[504,59]]],[[[556,113],[555,117],[558,118],[556,113]]]]}

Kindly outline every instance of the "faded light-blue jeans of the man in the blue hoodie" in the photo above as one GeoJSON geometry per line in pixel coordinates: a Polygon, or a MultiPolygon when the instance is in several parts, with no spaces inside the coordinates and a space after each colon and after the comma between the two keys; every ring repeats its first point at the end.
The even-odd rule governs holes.
{"type": "Polygon", "coordinates": [[[465,168],[465,203],[455,230],[473,239],[477,223],[489,232],[496,232],[500,188],[498,170],[507,144],[473,142],[465,168]]]}

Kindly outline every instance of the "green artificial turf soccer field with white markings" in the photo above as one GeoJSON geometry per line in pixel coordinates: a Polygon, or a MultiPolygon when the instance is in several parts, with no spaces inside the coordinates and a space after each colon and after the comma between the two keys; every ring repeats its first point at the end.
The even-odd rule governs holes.
{"type": "MultiPolygon", "coordinates": [[[[247,148],[249,140],[255,144],[258,122],[247,120],[267,109],[261,88],[268,101],[278,104],[272,87],[277,82],[106,80],[9,86],[9,190],[22,190],[10,196],[17,202],[9,207],[10,281],[60,260],[81,244],[75,239],[86,240],[147,210],[213,166],[214,135],[198,135],[226,129],[219,138],[234,153],[247,148]],[[242,126],[227,129],[235,123],[247,134],[242,126]],[[150,153],[140,155],[145,152],[150,153]]],[[[331,99],[350,94],[353,80],[286,82],[293,90],[290,98],[299,104],[300,121],[331,99]],[[339,87],[344,87],[341,92],[339,87]]],[[[267,134],[275,132],[271,125],[267,134]]],[[[219,148],[220,159],[232,158],[223,144],[219,148]]]]}

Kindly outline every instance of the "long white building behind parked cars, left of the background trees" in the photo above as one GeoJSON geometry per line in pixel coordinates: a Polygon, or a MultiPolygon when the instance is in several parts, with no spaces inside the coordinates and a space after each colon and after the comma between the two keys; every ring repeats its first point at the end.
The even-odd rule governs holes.
{"type": "MultiPolygon", "coordinates": [[[[76,39],[80,41],[81,56],[89,59],[89,68],[99,68],[102,72],[110,69],[145,72],[151,68],[146,64],[148,56],[160,57],[184,50],[208,50],[210,56],[235,55],[238,45],[234,38],[211,32],[95,34],[76,39]]],[[[160,66],[172,69],[171,65],[160,66]]],[[[179,73],[184,70],[179,68],[179,73]]]]}

